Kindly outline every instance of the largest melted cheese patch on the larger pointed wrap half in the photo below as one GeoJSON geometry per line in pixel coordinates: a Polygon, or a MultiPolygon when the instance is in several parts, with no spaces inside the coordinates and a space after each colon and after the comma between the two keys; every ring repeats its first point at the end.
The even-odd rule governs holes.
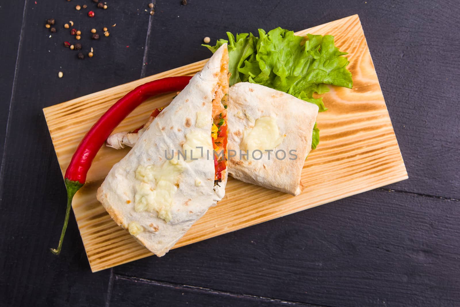
{"type": "Polygon", "coordinates": [[[169,222],[172,218],[173,196],[178,190],[180,174],[186,168],[184,161],[176,158],[166,161],[161,166],[139,165],[134,195],[134,210],[136,212],[157,212],[158,217],[169,222]]]}

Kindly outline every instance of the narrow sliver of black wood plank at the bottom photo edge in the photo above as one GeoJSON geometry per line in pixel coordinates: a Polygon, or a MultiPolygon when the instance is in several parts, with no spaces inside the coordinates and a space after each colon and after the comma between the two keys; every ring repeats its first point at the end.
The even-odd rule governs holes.
{"type": "Polygon", "coordinates": [[[110,307],[129,306],[213,306],[213,307],[249,307],[249,306],[305,306],[318,305],[299,302],[280,301],[250,295],[237,295],[204,288],[179,284],[158,283],[142,278],[116,276],[110,307]]]}

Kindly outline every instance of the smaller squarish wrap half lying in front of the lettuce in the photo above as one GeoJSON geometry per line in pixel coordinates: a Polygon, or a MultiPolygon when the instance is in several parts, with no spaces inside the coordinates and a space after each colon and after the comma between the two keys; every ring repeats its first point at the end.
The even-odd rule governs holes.
{"type": "Polygon", "coordinates": [[[230,176],[299,195],[318,106],[248,82],[231,86],[229,95],[230,176]]]}

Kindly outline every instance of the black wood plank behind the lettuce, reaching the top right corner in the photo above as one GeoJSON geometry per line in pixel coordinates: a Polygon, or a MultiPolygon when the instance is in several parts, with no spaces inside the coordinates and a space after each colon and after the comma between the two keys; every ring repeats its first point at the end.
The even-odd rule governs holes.
{"type": "Polygon", "coordinates": [[[353,14],[361,18],[408,169],[409,180],[390,187],[460,199],[460,31],[454,30],[460,6],[454,0],[158,1],[147,75],[209,57],[200,46],[205,36],[214,43],[229,30],[300,30],[353,14]]]}

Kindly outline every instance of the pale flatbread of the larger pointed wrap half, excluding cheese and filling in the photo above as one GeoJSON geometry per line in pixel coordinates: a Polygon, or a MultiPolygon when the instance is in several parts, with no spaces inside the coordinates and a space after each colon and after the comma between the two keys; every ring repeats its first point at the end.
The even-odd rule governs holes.
{"type": "MultiPolygon", "coordinates": [[[[181,162],[179,159],[183,169],[178,175],[177,191],[172,198],[171,220],[166,222],[159,218],[156,211],[135,211],[135,195],[139,189],[136,171],[139,165],[161,168],[170,163],[165,151],[167,156],[172,150],[183,151],[189,133],[204,133],[211,139],[213,95],[222,73],[228,78],[228,70],[221,71],[225,61],[228,68],[226,44],[155,118],[127,156],[113,166],[98,189],[98,200],[112,219],[125,229],[134,225],[134,237],[157,256],[165,255],[209,207],[224,197],[227,176],[219,183],[220,186],[214,188],[212,145],[204,148],[205,156],[198,160],[181,162]],[[197,112],[209,115],[209,125],[196,126],[197,112]],[[209,159],[207,149],[210,150],[209,159]]],[[[155,189],[155,182],[152,187],[155,189]]]]}

